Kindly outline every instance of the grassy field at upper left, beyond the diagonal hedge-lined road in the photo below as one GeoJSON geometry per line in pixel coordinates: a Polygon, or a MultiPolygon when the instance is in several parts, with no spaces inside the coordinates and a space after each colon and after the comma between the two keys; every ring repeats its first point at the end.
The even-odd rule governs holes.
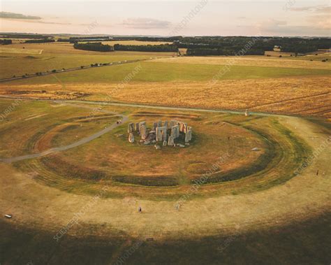
{"type": "Polygon", "coordinates": [[[0,78],[61,70],[95,63],[172,56],[172,52],[91,52],[72,43],[20,43],[0,48],[0,78]]]}

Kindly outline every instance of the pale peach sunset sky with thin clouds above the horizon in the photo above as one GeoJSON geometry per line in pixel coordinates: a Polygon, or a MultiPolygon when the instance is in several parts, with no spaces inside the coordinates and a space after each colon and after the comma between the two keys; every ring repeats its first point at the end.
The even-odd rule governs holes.
{"type": "Polygon", "coordinates": [[[330,1],[1,1],[0,27],[49,34],[330,36],[330,15],[330,1]]]}

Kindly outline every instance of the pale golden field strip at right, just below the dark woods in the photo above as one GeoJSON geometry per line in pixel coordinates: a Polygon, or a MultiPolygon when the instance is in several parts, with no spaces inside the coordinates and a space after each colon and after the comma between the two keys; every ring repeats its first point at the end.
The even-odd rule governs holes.
{"type": "MultiPolygon", "coordinates": [[[[330,58],[330,55],[325,55],[330,58]]],[[[314,59],[311,57],[311,59],[314,59]]],[[[237,66],[265,66],[281,68],[300,68],[300,69],[331,69],[331,62],[307,61],[298,59],[270,58],[263,56],[256,57],[173,57],[154,60],[154,62],[166,62],[174,64],[214,64],[214,65],[237,65],[237,66]]]]}

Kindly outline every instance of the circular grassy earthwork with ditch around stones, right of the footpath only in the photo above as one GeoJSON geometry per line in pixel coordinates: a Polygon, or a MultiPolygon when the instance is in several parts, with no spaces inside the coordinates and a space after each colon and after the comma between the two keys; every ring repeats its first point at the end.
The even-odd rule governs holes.
{"type": "Polygon", "coordinates": [[[125,134],[124,124],[122,128],[118,127],[113,131],[114,136],[102,136],[93,143],[78,148],[79,150],[68,150],[59,154],[59,157],[49,156],[16,165],[22,171],[35,172],[34,177],[38,182],[67,192],[96,194],[101,187],[107,185],[106,196],[110,197],[122,197],[125,192],[131,192],[135,196],[152,199],[176,199],[185,194],[190,188],[190,182],[203,176],[217,157],[225,152],[229,152],[230,158],[221,165],[221,171],[210,176],[205,182],[208,185],[203,185],[201,192],[193,194],[193,197],[251,193],[280,185],[293,178],[295,169],[309,154],[307,145],[279,124],[276,118],[221,115],[209,117],[207,124],[212,124],[218,134],[222,131],[229,133],[231,127],[242,127],[239,131],[245,136],[240,138],[233,131],[228,134],[231,136],[230,141],[228,136],[224,135],[209,142],[214,138],[213,127],[207,127],[205,124],[204,127],[210,135],[201,136],[196,132],[196,143],[192,143],[189,148],[165,148],[156,152],[151,146],[128,145],[126,138],[117,137],[118,134],[125,134]],[[235,125],[229,124],[228,127],[217,129],[224,121],[233,122],[235,125]],[[259,140],[252,141],[254,138],[259,140]],[[247,148],[242,145],[245,142],[248,143],[247,148]],[[210,154],[214,148],[219,151],[218,155],[203,155],[199,149],[200,145],[207,150],[212,148],[204,154],[210,154]],[[251,151],[251,148],[256,146],[260,150],[251,151]],[[95,155],[94,150],[98,150],[95,155]],[[185,152],[185,155],[181,155],[181,152],[185,152]],[[193,159],[189,153],[200,153],[203,159],[193,159]],[[253,157],[250,157],[251,155],[253,157]],[[146,157],[146,161],[143,157],[146,157]],[[167,157],[167,163],[164,157],[167,157]],[[175,159],[174,162],[172,158],[175,159]],[[77,164],[77,161],[83,162],[84,166],[77,164]],[[174,164],[175,162],[179,164],[174,164]],[[130,164],[130,167],[127,164],[130,164]],[[169,173],[171,169],[175,171],[169,173]],[[167,174],[160,176],[158,170],[159,173],[167,174]],[[152,192],[151,195],[149,192],[152,192]]]}

